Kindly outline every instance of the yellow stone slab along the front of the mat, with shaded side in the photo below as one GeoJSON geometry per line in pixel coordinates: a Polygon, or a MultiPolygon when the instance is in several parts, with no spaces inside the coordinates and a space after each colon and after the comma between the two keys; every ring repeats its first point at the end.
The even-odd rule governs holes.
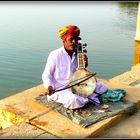
{"type": "Polygon", "coordinates": [[[97,122],[87,128],[83,128],[72,123],[68,118],[62,116],[56,111],[51,111],[33,121],[31,124],[50,132],[51,134],[61,138],[86,138],[96,137],[105,129],[118,121],[126,118],[126,114],[118,114],[103,121],[97,122]]]}

